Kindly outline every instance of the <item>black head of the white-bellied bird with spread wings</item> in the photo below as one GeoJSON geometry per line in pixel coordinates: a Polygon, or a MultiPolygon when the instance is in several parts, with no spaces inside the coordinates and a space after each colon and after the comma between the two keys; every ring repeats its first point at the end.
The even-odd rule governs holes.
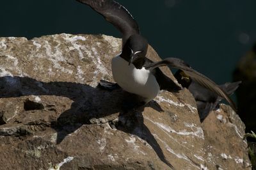
{"type": "Polygon", "coordinates": [[[123,53],[129,62],[136,65],[143,65],[147,54],[148,42],[141,35],[132,35],[128,38],[124,45],[123,53]]]}

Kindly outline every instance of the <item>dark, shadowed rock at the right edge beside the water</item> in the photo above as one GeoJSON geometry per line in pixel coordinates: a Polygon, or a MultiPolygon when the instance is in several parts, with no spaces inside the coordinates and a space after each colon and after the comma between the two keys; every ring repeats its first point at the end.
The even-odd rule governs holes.
{"type": "Polygon", "coordinates": [[[256,132],[256,43],[237,63],[233,78],[243,82],[236,91],[239,116],[247,132],[256,132]]]}

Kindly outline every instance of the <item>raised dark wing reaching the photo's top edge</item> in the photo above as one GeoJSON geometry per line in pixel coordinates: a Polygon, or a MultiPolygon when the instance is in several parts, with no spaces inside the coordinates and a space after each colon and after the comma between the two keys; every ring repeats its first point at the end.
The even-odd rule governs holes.
{"type": "Polygon", "coordinates": [[[140,34],[137,22],[131,13],[116,1],[111,0],[76,0],[89,5],[93,10],[113,24],[123,35],[123,45],[131,35],[140,34]]]}

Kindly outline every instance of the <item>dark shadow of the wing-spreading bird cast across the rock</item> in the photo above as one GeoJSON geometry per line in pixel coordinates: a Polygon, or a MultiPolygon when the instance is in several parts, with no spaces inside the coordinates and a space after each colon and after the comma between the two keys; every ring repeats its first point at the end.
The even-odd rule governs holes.
{"type": "MultiPolygon", "coordinates": [[[[127,111],[124,109],[124,104],[131,101],[136,102],[134,100],[136,96],[122,89],[106,91],[76,82],[41,82],[29,77],[0,77],[0,98],[29,95],[53,95],[67,97],[74,101],[70,109],[61,112],[58,118],[51,122],[51,127],[57,132],[57,144],[84,124],[109,123],[118,130],[137,135],[147,141],[156,151],[158,157],[172,167],[164,157],[163,150],[154,135],[143,123],[144,107],[163,111],[156,102],[152,101],[138,109],[127,111]]],[[[44,107],[40,108],[44,109],[44,107]]]]}

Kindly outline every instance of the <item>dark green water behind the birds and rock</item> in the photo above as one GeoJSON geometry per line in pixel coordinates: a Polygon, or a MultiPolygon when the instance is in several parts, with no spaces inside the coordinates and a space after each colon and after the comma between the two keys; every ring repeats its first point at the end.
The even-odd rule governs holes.
{"type": "MultiPolygon", "coordinates": [[[[182,58],[218,83],[232,80],[237,61],[256,42],[255,0],[118,2],[132,13],[141,35],[162,58],[182,58]]],[[[120,36],[103,17],[75,0],[8,0],[0,2],[0,9],[0,36],[120,36]]]]}

